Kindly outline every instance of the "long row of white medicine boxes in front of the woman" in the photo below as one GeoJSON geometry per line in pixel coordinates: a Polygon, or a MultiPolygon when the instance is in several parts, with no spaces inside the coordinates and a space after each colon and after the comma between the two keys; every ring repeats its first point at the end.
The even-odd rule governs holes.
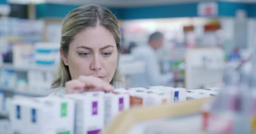
{"type": "Polygon", "coordinates": [[[104,131],[104,126],[123,110],[134,106],[155,106],[186,101],[187,93],[192,91],[186,92],[185,88],[155,86],[120,88],[112,93],[98,91],[47,98],[16,97],[10,107],[12,132],[99,134],[104,131]]]}

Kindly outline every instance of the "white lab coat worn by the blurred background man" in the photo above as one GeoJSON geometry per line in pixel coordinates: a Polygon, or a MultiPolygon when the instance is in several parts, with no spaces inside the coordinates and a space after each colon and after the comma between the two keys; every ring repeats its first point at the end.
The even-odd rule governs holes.
{"type": "Polygon", "coordinates": [[[149,46],[138,46],[132,52],[135,59],[144,61],[146,67],[143,74],[131,76],[131,87],[147,87],[155,85],[167,85],[173,79],[173,74],[161,74],[160,64],[155,50],[149,46]]]}

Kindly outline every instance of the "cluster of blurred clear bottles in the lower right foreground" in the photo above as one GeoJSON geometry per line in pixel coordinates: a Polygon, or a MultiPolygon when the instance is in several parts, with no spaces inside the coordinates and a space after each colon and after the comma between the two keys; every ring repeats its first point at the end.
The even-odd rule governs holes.
{"type": "Polygon", "coordinates": [[[202,107],[203,129],[228,134],[255,133],[255,67],[254,50],[251,61],[226,68],[223,90],[202,107]]]}

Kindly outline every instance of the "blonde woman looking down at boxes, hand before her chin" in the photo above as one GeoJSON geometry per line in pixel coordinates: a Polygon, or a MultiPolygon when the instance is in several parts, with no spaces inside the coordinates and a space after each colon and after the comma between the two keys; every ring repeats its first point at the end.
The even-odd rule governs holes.
{"type": "Polygon", "coordinates": [[[117,18],[98,5],[72,10],[61,29],[61,62],[53,95],[88,90],[111,91],[121,82],[118,59],[121,33],[117,18]]]}

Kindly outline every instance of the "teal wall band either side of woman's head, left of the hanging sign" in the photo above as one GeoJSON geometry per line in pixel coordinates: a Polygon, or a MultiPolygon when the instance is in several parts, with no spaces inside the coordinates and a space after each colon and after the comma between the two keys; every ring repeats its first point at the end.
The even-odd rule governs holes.
{"type": "MultiPolygon", "coordinates": [[[[64,18],[78,5],[39,4],[37,18],[64,18]]],[[[118,19],[171,18],[197,16],[197,3],[163,5],[141,8],[109,8],[118,19]]]]}

